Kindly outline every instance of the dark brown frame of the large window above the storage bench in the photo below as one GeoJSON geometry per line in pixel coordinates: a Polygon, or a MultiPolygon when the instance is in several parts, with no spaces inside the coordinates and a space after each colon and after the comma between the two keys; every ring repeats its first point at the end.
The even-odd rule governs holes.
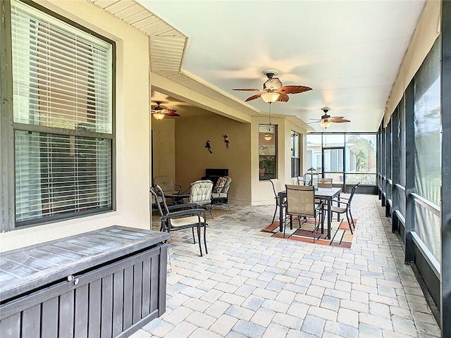
{"type": "MultiPolygon", "coordinates": [[[[73,27],[74,30],[80,30],[88,33],[97,39],[111,44],[111,93],[109,100],[111,104],[111,134],[102,132],[93,132],[89,130],[70,130],[57,127],[43,126],[43,125],[28,125],[24,123],[15,123],[13,121],[13,41],[11,37],[12,23],[11,23],[11,1],[4,1],[3,6],[0,6],[0,18],[4,22],[4,25],[0,28],[0,42],[2,46],[6,48],[1,49],[0,56],[2,60],[6,61],[6,66],[1,68],[0,73],[0,93],[1,96],[6,98],[1,101],[1,118],[0,118],[0,146],[2,149],[2,156],[0,160],[1,164],[1,177],[0,177],[0,231],[11,231],[17,229],[23,229],[25,227],[32,227],[37,225],[44,225],[48,223],[57,223],[61,220],[70,220],[74,218],[82,218],[87,215],[98,215],[99,213],[109,213],[116,211],[116,42],[108,39],[97,32],[89,30],[78,23],[75,23],[68,18],[59,15],[54,11],[50,11],[48,8],[35,4],[32,1],[16,0],[27,6],[31,6],[37,11],[41,11],[44,14],[51,15],[56,20],[61,20],[62,23],[66,23],[73,27]],[[111,206],[105,208],[92,208],[89,211],[71,212],[63,215],[51,216],[49,218],[37,218],[34,220],[20,223],[20,226],[16,224],[16,160],[15,160],[15,133],[16,131],[25,130],[27,132],[39,132],[39,133],[51,133],[58,135],[69,135],[78,137],[92,137],[94,139],[109,139],[109,168],[111,171],[111,178],[109,184],[111,184],[111,191],[109,192],[109,198],[111,199],[111,206]]],[[[109,70],[110,71],[110,70],[109,70]]],[[[104,168],[102,166],[97,168],[104,168]]],[[[96,179],[97,180],[97,179],[96,179]]],[[[99,182],[98,180],[96,182],[99,182]]]]}

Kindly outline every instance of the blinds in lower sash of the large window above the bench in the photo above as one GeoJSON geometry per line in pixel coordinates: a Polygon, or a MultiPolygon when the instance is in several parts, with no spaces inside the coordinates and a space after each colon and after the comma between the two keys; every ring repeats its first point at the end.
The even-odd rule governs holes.
{"type": "Polygon", "coordinates": [[[111,140],[21,130],[15,139],[16,189],[26,196],[16,222],[111,208],[111,140]]]}

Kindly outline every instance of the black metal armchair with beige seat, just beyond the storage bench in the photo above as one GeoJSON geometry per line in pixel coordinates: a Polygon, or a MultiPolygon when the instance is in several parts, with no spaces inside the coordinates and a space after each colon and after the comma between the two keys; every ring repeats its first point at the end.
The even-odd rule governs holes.
{"type": "Polygon", "coordinates": [[[155,201],[161,201],[161,203],[156,203],[156,207],[161,217],[160,231],[171,233],[171,231],[191,229],[192,238],[194,244],[196,244],[196,237],[194,236],[195,228],[199,242],[200,256],[202,257],[202,245],[200,238],[201,228],[203,227],[205,253],[208,254],[209,251],[206,248],[206,227],[208,226],[208,223],[206,223],[205,210],[202,208],[183,208],[180,210],[180,206],[183,206],[181,204],[168,206],[166,204],[164,192],[158,184],[154,184],[154,186],[150,188],[150,193],[155,201]]]}

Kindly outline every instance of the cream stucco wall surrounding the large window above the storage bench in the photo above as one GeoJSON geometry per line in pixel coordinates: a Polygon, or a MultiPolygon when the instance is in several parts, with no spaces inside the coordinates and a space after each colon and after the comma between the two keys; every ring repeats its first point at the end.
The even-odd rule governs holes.
{"type": "Polygon", "coordinates": [[[37,2],[116,41],[116,211],[0,234],[0,250],[16,249],[110,225],[148,229],[148,38],[87,1],[37,2]]]}

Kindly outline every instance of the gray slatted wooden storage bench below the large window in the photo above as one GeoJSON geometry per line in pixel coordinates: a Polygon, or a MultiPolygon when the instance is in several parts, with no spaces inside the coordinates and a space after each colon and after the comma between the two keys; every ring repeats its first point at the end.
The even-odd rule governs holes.
{"type": "Polygon", "coordinates": [[[168,237],[112,226],[1,253],[0,337],[128,337],[166,311],[168,237]]]}

